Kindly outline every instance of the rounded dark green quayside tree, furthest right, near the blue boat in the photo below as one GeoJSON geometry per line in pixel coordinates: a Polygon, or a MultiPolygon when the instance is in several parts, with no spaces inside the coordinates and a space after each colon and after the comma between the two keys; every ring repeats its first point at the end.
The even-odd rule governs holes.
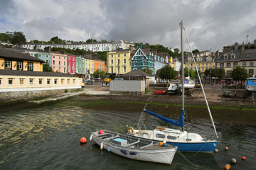
{"type": "MultiPolygon", "coordinates": [[[[245,81],[249,74],[245,68],[238,66],[232,69],[231,77],[234,81],[245,81]]],[[[242,83],[240,83],[240,88],[242,89],[242,83]]]]}

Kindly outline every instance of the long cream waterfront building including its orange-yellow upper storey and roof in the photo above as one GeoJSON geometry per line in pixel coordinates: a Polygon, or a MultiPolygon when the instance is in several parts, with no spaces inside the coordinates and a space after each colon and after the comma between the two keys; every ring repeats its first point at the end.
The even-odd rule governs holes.
{"type": "MultiPolygon", "coordinates": [[[[0,92],[41,91],[80,89],[82,78],[75,74],[43,72],[45,62],[36,57],[14,50],[0,48],[0,92]]],[[[53,92],[51,93],[53,94],[53,92]]],[[[18,94],[15,94],[18,96],[18,94]]],[[[24,94],[26,96],[26,94],[24,94]]],[[[10,94],[0,93],[0,98],[10,94]]]]}

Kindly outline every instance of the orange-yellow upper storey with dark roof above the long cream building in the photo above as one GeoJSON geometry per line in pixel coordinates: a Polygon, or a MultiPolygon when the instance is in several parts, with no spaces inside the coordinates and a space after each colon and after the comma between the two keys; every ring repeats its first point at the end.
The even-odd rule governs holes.
{"type": "Polygon", "coordinates": [[[0,49],[0,69],[43,72],[43,60],[14,50],[0,49]]]}

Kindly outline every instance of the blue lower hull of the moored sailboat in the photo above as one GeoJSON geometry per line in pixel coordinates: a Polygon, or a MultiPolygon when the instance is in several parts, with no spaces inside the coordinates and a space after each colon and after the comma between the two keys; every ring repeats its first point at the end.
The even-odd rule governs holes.
{"type": "Polygon", "coordinates": [[[218,145],[218,141],[215,142],[198,142],[198,143],[177,143],[166,142],[169,145],[178,147],[181,152],[213,152],[218,145]]]}

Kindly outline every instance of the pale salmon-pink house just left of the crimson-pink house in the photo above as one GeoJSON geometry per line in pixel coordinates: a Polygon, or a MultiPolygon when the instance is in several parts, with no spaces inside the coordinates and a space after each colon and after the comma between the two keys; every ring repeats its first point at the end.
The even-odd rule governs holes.
{"type": "Polygon", "coordinates": [[[62,55],[59,52],[53,52],[51,55],[53,72],[67,73],[67,55],[62,55]]]}

